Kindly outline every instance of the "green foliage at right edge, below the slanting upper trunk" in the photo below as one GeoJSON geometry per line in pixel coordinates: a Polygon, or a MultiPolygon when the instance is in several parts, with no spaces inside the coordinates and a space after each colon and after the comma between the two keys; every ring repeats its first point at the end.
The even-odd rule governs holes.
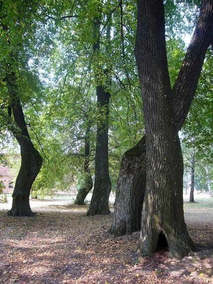
{"type": "Polygon", "coordinates": [[[197,158],[205,158],[207,163],[212,163],[212,64],[213,55],[209,50],[198,82],[195,98],[183,126],[183,135],[185,137],[184,141],[186,146],[188,148],[192,146],[193,138],[193,143],[197,149],[197,158]]]}

